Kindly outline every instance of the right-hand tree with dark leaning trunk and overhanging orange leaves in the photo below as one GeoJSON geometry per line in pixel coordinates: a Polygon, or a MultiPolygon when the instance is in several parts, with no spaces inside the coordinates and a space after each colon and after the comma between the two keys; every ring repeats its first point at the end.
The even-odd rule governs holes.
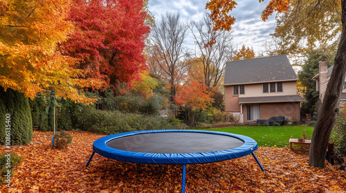
{"type": "MultiPolygon", "coordinates": [[[[260,2],[263,0],[260,0],[260,2]]],[[[273,12],[287,12],[293,3],[302,3],[301,0],[289,0],[289,1],[278,1],[271,0],[268,3],[266,9],[262,12],[262,19],[265,21],[268,19],[268,16],[273,14],[273,12]]],[[[217,28],[226,28],[230,30],[230,26],[234,24],[233,19],[228,19],[228,11],[232,10],[235,7],[235,1],[233,0],[210,0],[207,3],[207,8],[212,12],[211,18],[217,23],[217,28]],[[221,11],[220,11],[221,10],[221,11]],[[229,27],[224,25],[223,19],[226,14],[226,19],[230,21],[231,24],[229,27]]],[[[329,8],[334,8],[336,14],[341,16],[341,27],[342,32],[340,34],[340,42],[338,44],[338,50],[336,52],[336,57],[334,59],[334,68],[331,72],[331,77],[329,83],[327,84],[327,90],[325,94],[322,107],[320,109],[320,116],[318,116],[318,121],[316,123],[315,130],[313,130],[313,136],[311,139],[311,146],[309,151],[309,165],[317,167],[325,167],[325,156],[327,154],[327,144],[331,134],[331,130],[334,126],[336,116],[338,115],[338,105],[340,102],[341,92],[343,91],[343,85],[345,81],[346,74],[346,0],[313,0],[309,1],[309,9],[304,11],[305,15],[297,14],[297,17],[306,16],[307,19],[314,19],[314,17],[319,17],[320,15],[324,17],[325,14],[329,14],[329,8]],[[310,12],[309,12],[310,10],[310,12]],[[340,12],[341,10],[341,12],[340,12]]],[[[326,17],[325,19],[329,19],[326,17]]],[[[322,18],[322,21],[325,21],[322,18]]],[[[309,20],[308,20],[309,21],[309,20]]],[[[316,23],[307,23],[306,26],[314,26],[316,30],[321,30],[316,26],[318,23],[322,23],[320,19],[316,20],[316,23]]],[[[340,22],[336,21],[337,25],[340,25],[340,22]]],[[[304,31],[302,31],[304,32],[304,31]]],[[[331,33],[334,33],[331,31],[331,33]]],[[[304,34],[304,37],[309,36],[309,34],[304,34]]],[[[328,34],[321,33],[321,36],[328,37],[328,34]]],[[[321,41],[323,43],[324,41],[321,41]]],[[[313,41],[308,41],[312,44],[313,41]]]]}

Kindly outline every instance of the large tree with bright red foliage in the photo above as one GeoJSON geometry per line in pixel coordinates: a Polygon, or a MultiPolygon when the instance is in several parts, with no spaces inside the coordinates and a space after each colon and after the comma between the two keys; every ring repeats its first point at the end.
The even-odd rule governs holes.
{"type": "MultiPolygon", "coordinates": [[[[146,69],[143,0],[75,0],[69,21],[76,26],[69,40],[62,43],[66,54],[80,59],[77,68],[108,85],[140,79],[146,69]]],[[[114,87],[116,88],[116,87],[114,87]]]]}

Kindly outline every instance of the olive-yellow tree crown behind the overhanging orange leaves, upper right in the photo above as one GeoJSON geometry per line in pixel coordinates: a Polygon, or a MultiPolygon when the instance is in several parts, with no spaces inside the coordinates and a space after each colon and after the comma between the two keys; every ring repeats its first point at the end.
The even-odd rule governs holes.
{"type": "Polygon", "coordinates": [[[336,50],[340,40],[341,1],[292,1],[286,12],[277,14],[275,32],[280,50],[301,54],[316,47],[336,50]]]}

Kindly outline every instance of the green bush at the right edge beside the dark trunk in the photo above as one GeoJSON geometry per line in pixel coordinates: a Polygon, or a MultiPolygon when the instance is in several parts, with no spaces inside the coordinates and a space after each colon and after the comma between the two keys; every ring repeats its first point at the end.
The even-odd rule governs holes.
{"type": "Polygon", "coordinates": [[[335,150],[340,156],[346,154],[346,117],[345,110],[339,111],[338,117],[334,123],[334,128],[331,131],[331,141],[334,142],[335,150]]]}

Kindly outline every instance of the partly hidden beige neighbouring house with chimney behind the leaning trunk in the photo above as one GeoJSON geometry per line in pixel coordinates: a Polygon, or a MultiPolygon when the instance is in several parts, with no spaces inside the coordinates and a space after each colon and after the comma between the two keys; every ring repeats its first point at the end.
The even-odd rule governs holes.
{"type": "MultiPolygon", "coordinates": [[[[327,84],[329,82],[331,71],[333,71],[334,65],[328,68],[328,61],[320,61],[318,74],[312,79],[316,81],[316,91],[319,92],[318,98],[320,99],[320,103],[323,102],[325,98],[325,91],[327,90],[327,84]]],[[[341,93],[340,103],[346,102],[346,79],[344,83],[344,89],[341,93]]]]}

